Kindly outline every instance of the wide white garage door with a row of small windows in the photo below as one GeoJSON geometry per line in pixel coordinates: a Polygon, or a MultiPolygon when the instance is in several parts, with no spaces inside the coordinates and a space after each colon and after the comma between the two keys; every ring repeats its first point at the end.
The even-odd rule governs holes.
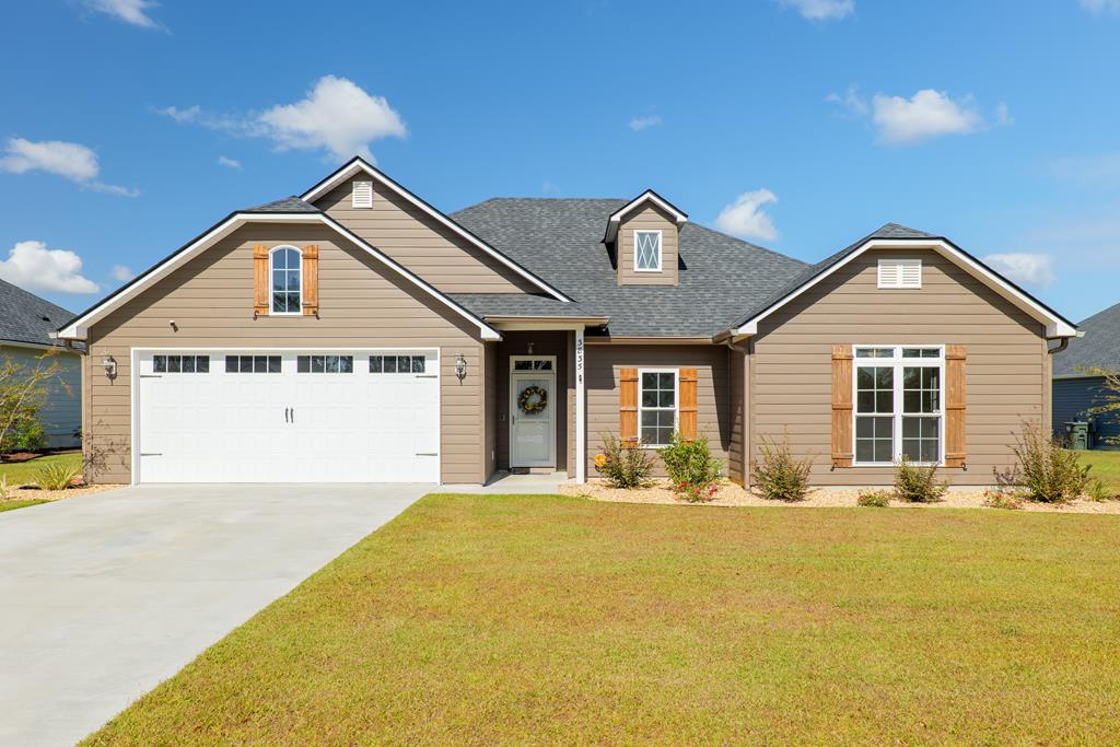
{"type": "Polygon", "coordinates": [[[435,351],[166,351],[137,363],[138,482],[439,482],[435,351]]]}

